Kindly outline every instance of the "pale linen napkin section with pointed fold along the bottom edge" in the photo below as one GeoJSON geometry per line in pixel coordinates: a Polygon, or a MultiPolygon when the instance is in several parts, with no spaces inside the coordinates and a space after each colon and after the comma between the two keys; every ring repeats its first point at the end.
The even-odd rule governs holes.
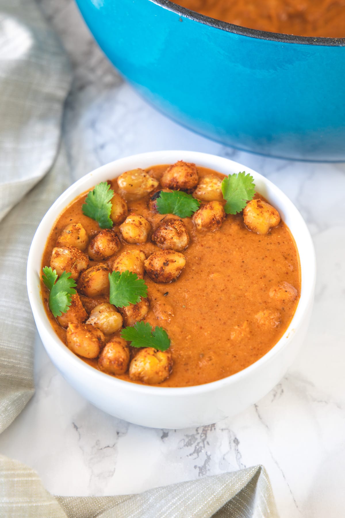
{"type": "Polygon", "coordinates": [[[277,518],[265,468],[156,487],[138,495],[52,497],[37,473],[0,456],[0,506],[11,518],[277,518]]]}

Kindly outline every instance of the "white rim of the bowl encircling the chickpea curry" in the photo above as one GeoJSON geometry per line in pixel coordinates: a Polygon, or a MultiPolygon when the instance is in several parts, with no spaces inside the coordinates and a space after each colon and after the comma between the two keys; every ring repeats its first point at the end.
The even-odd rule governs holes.
{"type": "MultiPolygon", "coordinates": [[[[130,166],[130,168],[133,168],[133,166],[130,166]]],[[[280,210],[283,210],[280,207],[280,210]]],[[[291,232],[292,233],[292,232],[291,232]]],[[[297,249],[298,250],[298,249],[297,249]]],[[[42,254],[39,255],[40,262],[42,254]]],[[[302,261],[301,262],[301,271],[302,271],[302,261]]],[[[40,271],[40,264],[38,266],[38,270],[40,271]]],[[[299,326],[302,325],[304,317],[306,313],[308,312],[308,309],[310,308],[310,304],[312,303],[313,299],[313,292],[314,292],[314,286],[316,282],[316,255],[314,251],[313,242],[309,233],[309,230],[307,228],[307,225],[305,221],[302,218],[301,213],[297,210],[297,208],[294,206],[294,204],[291,202],[291,200],[288,198],[286,194],[284,194],[273,182],[265,178],[264,176],[260,175],[257,171],[244,166],[243,164],[239,164],[238,162],[235,162],[233,160],[229,160],[225,157],[220,157],[217,155],[209,154],[209,153],[201,153],[197,151],[150,151],[146,153],[140,153],[135,155],[129,155],[127,157],[117,159],[113,162],[109,162],[107,164],[104,164],[93,171],[89,172],[88,174],[81,177],[76,182],[72,183],[52,204],[52,206],[49,208],[49,210],[44,214],[40,224],[37,227],[37,230],[35,232],[34,238],[32,240],[28,258],[27,258],[27,270],[26,270],[26,280],[27,280],[27,292],[28,292],[28,298],[29,302],[32,308],[32,312],[34,315],[34,319],[36,322],[36,326],[39,330],[43,327],[44,333],[46,336],[49,337],[49,340],[53,343],[53,346],[56,347],[60,353],[63,356],[63,359],[66,363],[69,363],[70,366],[74,369],[74,371],[77,371],[80,376],[89,376],[89,379],[93,379],[95,383],[97,381],[100,381],[102,378],[102,382],[106,383],[108,385],[113,385],[115,388],[116,386],[118,389],[124,389],[126,391],[134,391],[134,392],[141,392],[142,394],[146,395],[153,395],[153,396],[163,396],[163,397],[176,397],[176,396],[186,396],[186,395],[195,395],[205,392],[213,392],[221,389],[224,385],[228,384],[234,384],[237,383],[239,380],[244,379],[246,377],[250,377],[252,372],[259,369],[264,363],[269,362],[273,356],[275,356],[281,349],[284,347],[287,347],[290,340],[293,339],[293,336],[298,329],[299,326]],[[282,206],[288,206],[288,211],[293,213],[293,216],[297,218],[299,226],[303,229],[303,232],[305,234],[304,239],[306,246],[309,247],[309,262],[308,262],[308,275],[309,275],[309,285],[304,287],[303,284],[303,277],[302,277],[302,287],[304,289],[301,290],[301,296],[298,301],[298,305],[295,311],[295,314],[290,322],[290,325],[282,335],[282,337],[278,340],[278,342],[267,351],[266,354],[264,354],[261,358],[259,358],[256,362],[249,365],[245,369],[242,369],[241,371],[238,371],[234,373],[233,375],[227,376],[226,378],[222,378],[220,380],[212,381],[209,383],[204,383],[201,385],[191,385],[186,387],[160,387],[160,386],[150,386],[150,385],[142,385],[139,383],[132,383],[126,380],[118,379],[114,376],[111,376],[109,374],[106,374],[102,371],[99,371],[95,369],[94,367],[88,365],[86,362],[84,362],[79,356],[72,353],[66,345],[58,338],[58,336],[55,334],[53,327],[50,324],[50,321],[48,319],[48,316],[46,314],[46,310],[43,307],[43,300],[41,298],[41,292],[40,292],[40,279],[37,274],[37,251],[36,249],[44,250],[44,247],[46,245],[48,236],[51,232],[51,229],[54,226],[54,222],[59,217],[59,214],[62,213],[62,211],[68,207],[68,205],[72,202],[74,198],[79,196],[80,194],[86,192],[87,190],[91,189],[93,185],[98,183],[99,181],[103,181],[105,179],[109,178],[116,178],[121,172],[118,172],[118,174],[114,174],[111,172],[112,168],[119,167],[122,172],[129,170],[129,167],[125,164],[128,162],[131,163],[137,163],[137,166],[134,167],[140,167],[140,164],[142,162],[148,163],[147,166],[150,165],[158,165],[158,164],[164,164],[164,163],[173,163],[173,161],[181,160],[181,157],[185,159],[188,162],[194,162],[197,164],[197,166],[201,167],[209,167],[213,168],[214,170],[218,170],[218,168],[226,168],[226,166],[229,166],[229,169],[233,169],[234,167],[238,170],[245,170],[246,172],[249,172],[251,175],[254,176],[254,180],[261,181],[265,187],[267,187],[272,193],[279,196],[279,199],[281,200],[282,206]],[[167,160],[165,160],[167,159],[167,160]],[[173,159],[173,160],[171,160],[173,159]],[[210,165],[209,162],[211,162],[213,165],[210,165]],[[206,165],[204,165],[206,163],[206,165]],[[217,165],[218,163],[218,165],[217,165]],[[122,165],[123,164],[123,165],[122,165]],[[113,174],[112,177],[109,175],[113,174]],[[97,176],[104,176],[103,180],[100,180],[98,178],[95,178],[97,176]],[[85,184],[91,184],[90,187],[85,188],[85,184]],[[66,198],[70,198],[70,201],[66,203],[66,198]],[[44,228],[49,228],[49,232],[47,233],[44,228]],[[42,245],[43,242],[43,245],[42,245]],[[37,286],[39,289],[39,296],[35,296],[35,292],[37,293],[37,286]],[[42,316],[41,316],[42,315],[42,316]]],[[[44,348],[47,350],[46,344],[44,344],[43,339],[42,343],[44,348]]],[[[48,352],[48,350],[47,350],[48,352]]],[[[49,354],[49,352],[48,352],[49,354]]],[[[53,362],[54,363],[54,362],[53,362]]]]}

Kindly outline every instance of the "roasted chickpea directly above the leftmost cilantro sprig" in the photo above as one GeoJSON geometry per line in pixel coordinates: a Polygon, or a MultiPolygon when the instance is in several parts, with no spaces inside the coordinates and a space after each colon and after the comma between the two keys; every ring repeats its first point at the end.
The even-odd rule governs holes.
{"type": "Polygon", "coordinates": [[[50,266],[58,276],[67,271],[72,279],[77,280],[80,272],[88,267],[88,257],[76,247],[55,247],[50,257],[50,266]]]}

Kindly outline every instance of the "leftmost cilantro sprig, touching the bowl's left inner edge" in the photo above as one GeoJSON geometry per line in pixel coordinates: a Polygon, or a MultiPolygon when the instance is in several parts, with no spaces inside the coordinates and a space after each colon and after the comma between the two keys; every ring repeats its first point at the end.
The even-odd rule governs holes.
{"type": "Polygon", "coordinates": [[[71,305],[72,295],[77,293],[76,290],[74,290],[74,286],[77,286],[77,284],[70,275],[70,273],[63,271],[61,276],[57,279],[56,270],[52,270],[50,266],[44,266],[43,268],[42,281],[50,291],[48,306],[55,318],[68,311],[71,305]]]}

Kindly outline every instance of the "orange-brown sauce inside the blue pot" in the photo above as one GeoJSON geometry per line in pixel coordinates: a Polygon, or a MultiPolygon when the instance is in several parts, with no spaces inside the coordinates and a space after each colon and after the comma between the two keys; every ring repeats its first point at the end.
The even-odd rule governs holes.
{"type": "Polygon", "coordinates": [[[177,0],[174,3],[259,31],[345,37],[345,0],[177,0]]]}

